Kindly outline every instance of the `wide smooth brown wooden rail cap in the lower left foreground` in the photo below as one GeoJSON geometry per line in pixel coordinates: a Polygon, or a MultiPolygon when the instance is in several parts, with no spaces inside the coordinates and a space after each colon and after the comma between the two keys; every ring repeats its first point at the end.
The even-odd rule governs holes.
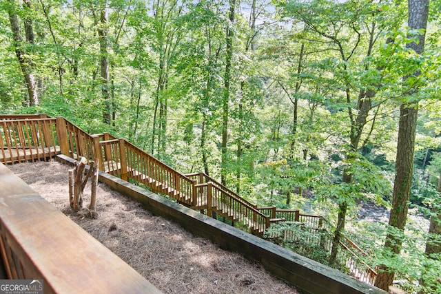
{"type": "Polygon", "coordinates": [[[21,267],[14,270],[43,279],[45,293],[161,293],[2,164],[0,199],[0,233],[21,267]]]}

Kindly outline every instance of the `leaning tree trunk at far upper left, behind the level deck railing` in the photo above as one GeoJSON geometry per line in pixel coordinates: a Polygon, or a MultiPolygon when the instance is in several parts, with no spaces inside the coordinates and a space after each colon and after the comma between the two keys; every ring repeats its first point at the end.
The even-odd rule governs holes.
{"type": "MultiPolygon", "coordinates": [[[[9,20],[11,24],[12,36],[14,38],[15,54],[17,54],[17,59],[19,60],[20,69],[23,73],[23,78],[25,80],[26,90],[28,90],[28,105],[38,105],[39,95],[37,81],[35,80],[34,74],[32,73],[32,59],[30,54],[25,50],[25,44],[23,42],[23,36],[21,36],[19,18],[17,17],[17,4],[14,0],[10,0],[11,9],[8,10],[9,20]]],[[[30,6],[30,1],[26,1],[30,6]]],[[[29,43],[34,43],[34,33],[32,30],[32,21],[29,19],[25,20],[25,35],[29,43]]]]}

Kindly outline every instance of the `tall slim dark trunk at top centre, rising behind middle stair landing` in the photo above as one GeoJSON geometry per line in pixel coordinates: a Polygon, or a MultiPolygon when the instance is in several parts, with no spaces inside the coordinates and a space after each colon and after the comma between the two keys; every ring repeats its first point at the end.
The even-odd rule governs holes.
{"type": "Polygon", "coordinates": [[[227,55],[225,57],[225,75],[222,98],[222,162],[220,171],[220,182],[226,185],[227,182],[227,143],[228,143],[228,119],[229,119],[229,84],[231,82],[232,57],[233,57],[233,28],[236,0],[229,0],[229,24],[227,26],[227,55]]]}

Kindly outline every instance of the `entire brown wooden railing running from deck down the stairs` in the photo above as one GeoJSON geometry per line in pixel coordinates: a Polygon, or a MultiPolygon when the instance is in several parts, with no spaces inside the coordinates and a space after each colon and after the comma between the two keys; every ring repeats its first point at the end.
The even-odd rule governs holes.
{"type": "MultiPolygon", "coordinates": [[[[233,222],[241,222],[258,235],[262,235],[271,223],[281,220],[329,229],[320,216],[276,207],[258,208],[206,174],[180,174],[124,139],[108,133],[90,135],[64,118],[50,118],[45,114],[0,115],[0,139],[0,162],[5,164],[48,160],[60,153],[74,159],[98,158],[101,171],[140,182],[188,207],[206,209],[210,216],[215,212],[233,222]]],[[[357,256],[358,249],[354,250],[351,242],[342,244],[342,248],[357,256]]],[[[360,264],[353,261],[355,263],[360,264]]],[[[356,269],[355,265],[351,268],[356,269]]],[[[373,278],[376,275],[371,268],[364,271],[373,278]]],[[[372,282],[373,278],[363,277],[367,282],[372,282]]]]}

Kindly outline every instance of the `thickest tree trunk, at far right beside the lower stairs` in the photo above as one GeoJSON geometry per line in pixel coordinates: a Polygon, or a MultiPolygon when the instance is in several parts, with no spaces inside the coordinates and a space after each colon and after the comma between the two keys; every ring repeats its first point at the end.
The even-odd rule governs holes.
{"type": "MultiPolygon", "coordinates": [[[[407,48],[414,50],[417,54],[424,51],[425,29],[429,15],[429,0],[409,0],[409,28],[410,30],[424,30],[418,35],[418,42],[407,44],[407,48]]],[[[411,76],[420,75],[420,72],[413,72],[411,76]]],[[[410,76],[405,76],[404,81],[410,76]]],[[[409,95],[416,94],[418,89],[412,89],[409,95]]],[[[416,126],[418,120],[418,103],[404,103],[400,107],[400,122],[398,124],[398,143],[396,156],[396,175],[393,184],[393,200],[389,225],[400,231],[404,230],[407,220],[407,209],[411,192],[413,174],[413,154],[415,148],[416,126]]],[[[395,254],[400,253],[402,238],[388,233],[384,242],[384,249],[395,254]]],[[[381,265],[380,272],[376,277],[375,285],[378,288],[387,290],[393,282],[395,273],[387,266],[381,265]]]]}

